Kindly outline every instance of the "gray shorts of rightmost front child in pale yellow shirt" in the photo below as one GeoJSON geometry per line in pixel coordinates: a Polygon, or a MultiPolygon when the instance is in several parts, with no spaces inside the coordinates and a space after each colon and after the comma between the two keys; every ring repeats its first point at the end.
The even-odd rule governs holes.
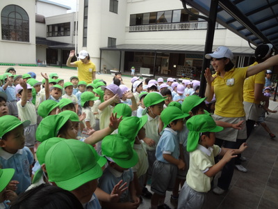
{"type": "Polygon", "coordinates": [[[201,209],[205,201],[205,192],[197,192],[185,182],[179,192],[178,209],[201,209]]]}

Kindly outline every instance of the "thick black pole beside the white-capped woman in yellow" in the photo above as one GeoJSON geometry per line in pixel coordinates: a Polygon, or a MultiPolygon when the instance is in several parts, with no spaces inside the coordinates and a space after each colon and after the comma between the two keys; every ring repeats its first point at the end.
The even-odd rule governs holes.
{"type": "MultiPolygon", "coordinates": [[[[208,53],[211,53],[213,49],[213,38],[215,32],[215,22],[218,13],[218,0],[211,0],[211,8],[209,11],[209,21],[208,21],[208,29],[206,31],[206,44],[204,46],[204,56],[208,53]]],[[[204,77],[204,70],[209,67],[210,60],[203,58],[202,64],[202,72],[201,72],[201,84],[199,88],[199,96],[204,98],[204,93],[206,91],[206,78],[204,77]]]]}

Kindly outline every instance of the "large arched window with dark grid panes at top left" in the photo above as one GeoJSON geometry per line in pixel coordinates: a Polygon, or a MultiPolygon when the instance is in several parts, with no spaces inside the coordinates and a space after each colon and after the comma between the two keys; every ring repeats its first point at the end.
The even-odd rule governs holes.
{"type": "Polygon", "coordinates": [[[29,42],[29,17],[20,6],[11,4],[1,11],[2,40],[29,42]]]}

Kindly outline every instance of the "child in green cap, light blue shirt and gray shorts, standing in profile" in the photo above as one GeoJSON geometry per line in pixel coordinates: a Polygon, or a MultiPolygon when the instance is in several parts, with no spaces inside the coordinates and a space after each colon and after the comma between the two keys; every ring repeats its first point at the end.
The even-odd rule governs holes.
{"type": "Polygon", "coordinates": [[[183,120],[187,116],[178,107],[167,107],[161,112],[164,130],[156,146],[156,161],[152,170],[152,209],[169,208],[164,203],[166,191],[174,188],[178,169],[186,167],[183,159],[179,158],[177,132],[182,130],[183,120]]]}

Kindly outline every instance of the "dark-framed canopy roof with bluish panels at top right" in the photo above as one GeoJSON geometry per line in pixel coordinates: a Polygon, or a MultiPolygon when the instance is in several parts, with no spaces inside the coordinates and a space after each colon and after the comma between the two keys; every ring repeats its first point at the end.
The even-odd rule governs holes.
{"type": "MultiPolygon", "coordinates": [[[[211,1],[182,0],[204,15],[209,15],[211,1]]],[[[277,0],[218,0],[217,22],[253,45],[271,43],[278,52],[277,0]]]]}

